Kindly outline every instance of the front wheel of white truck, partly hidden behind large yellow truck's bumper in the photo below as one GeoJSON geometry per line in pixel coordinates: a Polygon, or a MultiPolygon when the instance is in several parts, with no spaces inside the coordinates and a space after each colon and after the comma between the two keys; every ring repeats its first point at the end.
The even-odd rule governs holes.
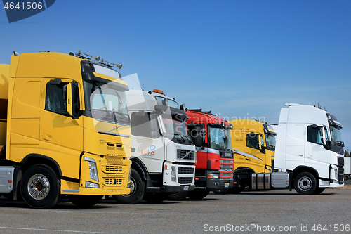
{"type": "Polygon", "coordinates": [[[123,204],[135,204],[143,200],[145,196],[145,183],[138,171],[131,169],[131,193],[128,195],[112,195],[115,200],[123,204]]]}

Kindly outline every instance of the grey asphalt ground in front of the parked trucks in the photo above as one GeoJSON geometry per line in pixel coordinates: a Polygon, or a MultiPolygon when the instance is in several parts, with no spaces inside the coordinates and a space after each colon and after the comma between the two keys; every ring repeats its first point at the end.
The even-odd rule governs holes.
{"type": "Polygon", "coordinates": [[[350,233],[350,195],[350,189],[265,190],[133,205],[111,197],[89,209],[68,200],[32,209],[0,197],[0,233],[350,233]]]}

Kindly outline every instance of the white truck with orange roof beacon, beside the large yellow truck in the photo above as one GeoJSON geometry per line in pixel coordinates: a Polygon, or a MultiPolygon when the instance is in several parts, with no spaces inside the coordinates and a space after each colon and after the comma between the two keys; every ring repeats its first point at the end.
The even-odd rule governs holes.
{"type": "Polygon", "coordinates": [[[131,193],[117,202],[161,202],[170,193],[194,190],[195,145],[187,115],[176,100],[154,91],[126,92],[131,117],[131,193]]]}

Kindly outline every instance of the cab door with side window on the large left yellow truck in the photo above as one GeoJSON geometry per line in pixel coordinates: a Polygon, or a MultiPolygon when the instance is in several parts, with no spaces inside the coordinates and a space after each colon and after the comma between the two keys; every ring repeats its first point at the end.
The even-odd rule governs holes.
{"type": "MultiPolygon", "coordinates": [[[[79,179],[79,160],[83,151],[83,117],[77,115],[74,118],[67,112],[64,94],[65,87],[70,82],[72,79],[44,78],[39,148],[42,155],[58,162],[62,176],[79,179]]],[[[77,86],[81,91],[79,84],[77,86]]],[[[76,111],[79,112],[81,102],[79,92],[74,98],[74,101],[78,102],[76,111]]]]}

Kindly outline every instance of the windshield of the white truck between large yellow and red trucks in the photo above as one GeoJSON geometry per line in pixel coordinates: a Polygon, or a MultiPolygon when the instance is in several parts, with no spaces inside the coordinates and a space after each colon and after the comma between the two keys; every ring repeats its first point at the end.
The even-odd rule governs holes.
{"type": "Polygon", "coordinates": [[[192,143],[184,121],[164,118],[164,126],[166,126],[167,136],[171,141],[187,145],[192,143]]]}

